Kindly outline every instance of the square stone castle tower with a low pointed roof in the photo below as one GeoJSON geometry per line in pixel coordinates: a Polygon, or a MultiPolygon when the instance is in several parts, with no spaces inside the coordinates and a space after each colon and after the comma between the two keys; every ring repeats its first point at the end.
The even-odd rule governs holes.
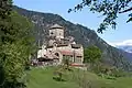
{"type": "Polygon", "coordinates": [[[58,24],[54,24],[50,29],[50,36],[53,36],[58,40],[64,38],[64,28],[58,24]]]}

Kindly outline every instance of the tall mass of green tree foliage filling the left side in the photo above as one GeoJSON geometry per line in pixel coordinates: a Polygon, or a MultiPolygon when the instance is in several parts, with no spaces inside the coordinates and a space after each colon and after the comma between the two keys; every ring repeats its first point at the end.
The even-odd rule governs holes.
{"type": "Polygon", "coordinates": [[[33,53],[31,22],[12,11],[11,0],[0,2],[0,72],[2,88],[24,87],[25,63],[33,53]]]}

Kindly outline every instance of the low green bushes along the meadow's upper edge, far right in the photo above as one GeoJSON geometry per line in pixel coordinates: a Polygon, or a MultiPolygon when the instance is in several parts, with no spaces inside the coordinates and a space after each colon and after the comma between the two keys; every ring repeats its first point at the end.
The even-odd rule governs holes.
{"type": "Polygon", "coordinates": [[[90,68],[90,72],[107,79],[117,79],[119,77],[132,77],[131,73],[105,64],[98,64],[90,68]]]}

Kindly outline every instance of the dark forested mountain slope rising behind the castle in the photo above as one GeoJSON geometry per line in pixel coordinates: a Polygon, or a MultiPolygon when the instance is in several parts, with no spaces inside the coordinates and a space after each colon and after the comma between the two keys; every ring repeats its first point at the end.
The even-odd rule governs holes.
{"type": "Polygon", "coordinates": [[[65,36],[74,36],[76,43],[82,44],[84,47],[89,45],[98,46],[103,52],[103,63],[127,70],[131,68],[127,52],[110,46],[94,30],[66,21],[58,14],[29,11],[18,7],[13,7],[13,9],[34,23],[36,41],[41,41],[40,46],[47,41],[48,28],[57,23],[65,28],[65,36]]]}

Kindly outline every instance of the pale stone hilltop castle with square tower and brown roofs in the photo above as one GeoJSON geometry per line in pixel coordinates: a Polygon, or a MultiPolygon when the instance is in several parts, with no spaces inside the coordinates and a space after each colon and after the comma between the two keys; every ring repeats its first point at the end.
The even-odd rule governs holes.
{"type": "Polygon", "coordinates": [[[84,47],[76,44],[73,36],[64,36],[64,28],[54,24],[48,29],[48,42],[37,52],[38,62],[62,64],[68,58],[73,64],[81,65],[84,62],[84,47]]]}

